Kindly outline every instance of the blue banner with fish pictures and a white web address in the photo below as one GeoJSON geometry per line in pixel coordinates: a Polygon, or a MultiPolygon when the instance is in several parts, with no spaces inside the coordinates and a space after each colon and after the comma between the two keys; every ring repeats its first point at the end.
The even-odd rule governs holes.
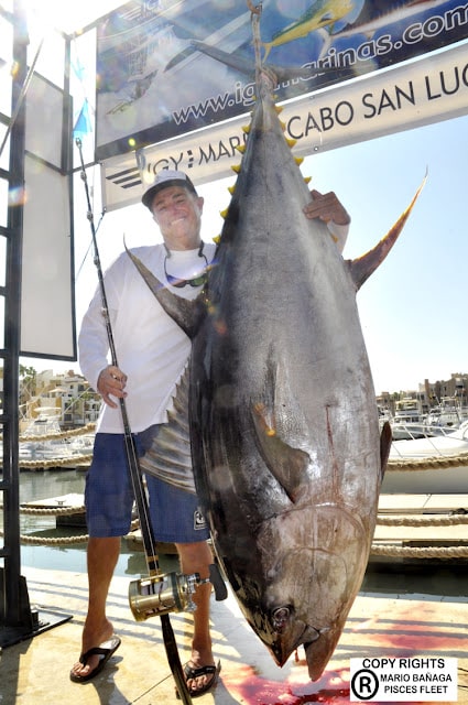
{"type": "MultiPolygon", "coordinates": [[[[280,101],[468,36],[468,3],[454,0],[264,0],[262,8],[263,59],[292,72],[277,86],[280,101]]],[[[244,0],[128,2],[97,32],[97,161],[244,113],[253,72],[244,0]]]]}

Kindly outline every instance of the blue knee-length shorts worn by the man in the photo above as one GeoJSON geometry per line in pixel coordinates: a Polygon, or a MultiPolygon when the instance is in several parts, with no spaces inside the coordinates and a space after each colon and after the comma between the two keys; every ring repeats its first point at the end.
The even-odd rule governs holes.
{"type": "MultiPolygon", "coordinates": [[[[134,435],[143,455],[153,433],[134,435]]],[[[196,495],[146,475],[150,521],[154,539],[164,543],[206,541],[209,532],[196,495]]],[[[130,531],[133,490],[127,465],[124,436],[97,433],[92,462],[86,476],[85,505],[92,538],[124,536],[130,531]]]]}

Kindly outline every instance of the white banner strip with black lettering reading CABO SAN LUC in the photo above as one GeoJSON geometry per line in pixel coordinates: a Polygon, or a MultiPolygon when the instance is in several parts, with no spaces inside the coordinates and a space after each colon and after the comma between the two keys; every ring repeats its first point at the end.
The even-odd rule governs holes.
{"type": "MultiPolygon", "coordinates": [[[[468,112],[468,42],[416,62],[339,84],[290,101],[281,115],[294,154],[305,156],[431,124],[468,112]]],[[[189,173],[196,184],[229,176],[240,162],[237,147],[247,139],[249,117],[107,160],[102,194],[107,209],[140,200],[142,180],[163,169],[189,173]]]]}

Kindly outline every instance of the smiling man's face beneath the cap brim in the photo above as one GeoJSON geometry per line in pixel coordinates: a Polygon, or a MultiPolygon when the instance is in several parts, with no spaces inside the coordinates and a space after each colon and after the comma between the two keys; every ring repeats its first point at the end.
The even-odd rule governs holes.
{"type": "Polygon", "coordinates": [[[198,247],[203,198],[184,186],[167,186],[154,196],[151,210],[170,249],[198,247]]]}

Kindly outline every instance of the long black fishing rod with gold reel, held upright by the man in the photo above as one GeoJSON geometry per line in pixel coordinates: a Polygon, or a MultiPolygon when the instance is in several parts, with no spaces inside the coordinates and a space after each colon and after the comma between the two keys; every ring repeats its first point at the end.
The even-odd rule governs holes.
{"type": "MultiPolygon", "coordinates": [[[[81,140],[76,139],[76,147],[79,152],[81,164],[81,181],[85,185],[87,200],[87,218],[89,220],[92,238],[92,248],[95,254],[95,265],[98,274],[99,291],[101,297],[102,316],[106,325],[106,333],[109,343],[111,364],[119,367],[117,359],[116,345],[113,340],[112,327],[109,316],[109,307],[107,304],[106,288],[100,264],[99,249],[96,238],[96,228],[91,210],[89,197],[89,187],[86,176],[85,163],[83,159],[81,140]]],[[[183,705],[191,705],[192,698],[188,692],[181,659],[178,655],[177,643],[174,637],[174,630],[171,625],[168,614],[171,611],[194,611],[196,608],[193,601],[193,595],[198,585],[208,583],[209,579],[200,579],[198,574],[181,575],[178,573],[168,573],[163,575],[157,563],[156,543],[154,540],[146,495],[144,492],[141,468],[135,447],[134,436],[131,432],[130,422],[127,413],[124,399],[119,399],[120,412],[123,423],[123,437],[126,444],[126,454],[128,468],[131,477],[133,495],[137,505],[137,511],[140,519],[140,529],[143,539],[144,554],[148,566],[148,578],[132,581],[129,586],[129,604],[137,621],[143,621],[149,617],[159,616],[164,638],[164,647],[166,650],[167,661],[174,676],[174,681],[181,696],[183,705]]]]}

